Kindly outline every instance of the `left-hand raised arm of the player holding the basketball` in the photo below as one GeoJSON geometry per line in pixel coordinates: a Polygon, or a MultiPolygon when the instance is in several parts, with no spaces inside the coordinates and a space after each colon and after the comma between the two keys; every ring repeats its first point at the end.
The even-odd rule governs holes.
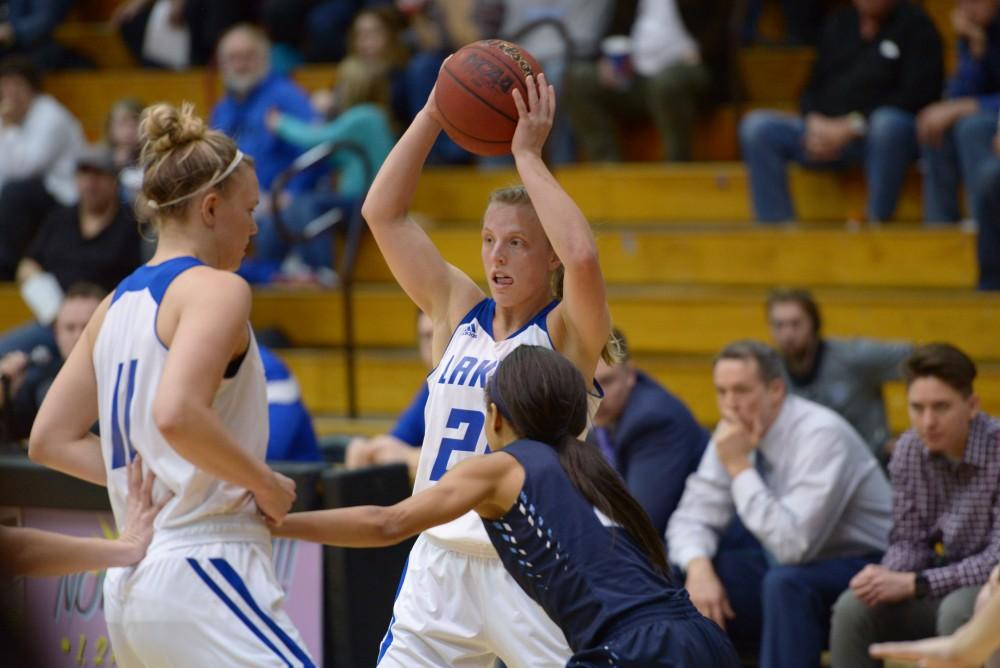
{"type": "Polygon", "coordinates": [[[436,325],[457,325],[483,298],[483,292],[472,279],[445,262],[427,233],[408,216],[420,171],[440,132],[431,91],[427,105],[382,163],[361,214],[392,275],[410,299],[436,325]]]}

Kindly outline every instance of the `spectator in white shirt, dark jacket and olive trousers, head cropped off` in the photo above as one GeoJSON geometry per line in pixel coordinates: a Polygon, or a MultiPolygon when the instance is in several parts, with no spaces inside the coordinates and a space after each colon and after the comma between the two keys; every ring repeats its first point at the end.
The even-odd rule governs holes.
{"type": "Polygon", "coordinates": [[[591,160],[621,161],[614,120],[642,116],[652,118],[665,160],[691,160],[698,109],[710,89],[727,89],[731,9],[725,0],[640,0],[628,56],[574,65],[568,107],[591,160]]]}

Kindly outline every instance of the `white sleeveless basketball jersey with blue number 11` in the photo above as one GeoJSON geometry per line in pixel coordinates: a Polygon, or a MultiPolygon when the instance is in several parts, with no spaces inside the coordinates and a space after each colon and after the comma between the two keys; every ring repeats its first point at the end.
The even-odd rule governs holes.
{"type": "MultiPolygon", "coordinates": [[[[168,352],[156,334],[156,315],[170,283],[199,265],[194,258],[182,257],[133,272],[115,290],[94,345],[101,451],[119,527],[128,495],[125,462],[135,453],[142,455],[144,468],[156,473],[154,499],[166,489],[174,492],[157,516],[155,529],[178,528],[212,515],[256,514],[246,489],[195,468],[167,443],[153,421],[153,399],[168,352]]],[[[266,392],[264,368],[251,331],[246,356],[235,375],[222,382],[212,407],[236,442],[261,460],[267,452],[266,392]]]]}

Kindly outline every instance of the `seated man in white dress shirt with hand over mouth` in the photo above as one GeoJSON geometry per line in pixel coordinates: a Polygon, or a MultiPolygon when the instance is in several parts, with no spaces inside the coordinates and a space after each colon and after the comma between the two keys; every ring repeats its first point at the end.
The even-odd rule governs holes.
{"type": "Polygon", "coordinates": [[[713,372],[722,420],[667,526],[692,602],[761,668],[819,666],[830,606],[886,547],[891,493],[842,417],[789,396],[763,343],[726,346],[713,372]],[[760,542],[717,550],[733,515],[760,542]],[[753,556],[751,556],[753,555],[753,556]]]}

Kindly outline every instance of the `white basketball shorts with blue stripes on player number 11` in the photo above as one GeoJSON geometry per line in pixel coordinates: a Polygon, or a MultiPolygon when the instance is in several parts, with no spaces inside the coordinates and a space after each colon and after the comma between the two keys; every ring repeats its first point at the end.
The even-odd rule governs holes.
{"type": "Polygon", "coordinates": [[[138,566],[108,569],[104,614],[122,668],[311,667],[284,596],[267,528],[222,518],[157,532],[138,566]]]}

